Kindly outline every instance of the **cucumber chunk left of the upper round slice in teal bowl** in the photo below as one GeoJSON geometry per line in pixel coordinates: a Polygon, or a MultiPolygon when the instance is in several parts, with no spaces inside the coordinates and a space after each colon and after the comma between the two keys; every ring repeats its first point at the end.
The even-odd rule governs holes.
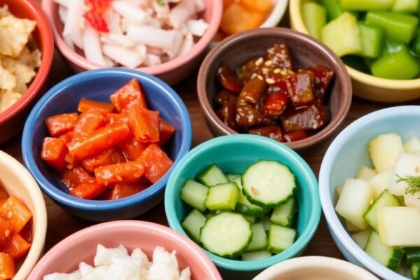
{"type": "Polygon", "coordinates": [[[239,198],[235,182],[221,183],[209,189],[205,206],[209,210],[233,210],[239,198]]]}

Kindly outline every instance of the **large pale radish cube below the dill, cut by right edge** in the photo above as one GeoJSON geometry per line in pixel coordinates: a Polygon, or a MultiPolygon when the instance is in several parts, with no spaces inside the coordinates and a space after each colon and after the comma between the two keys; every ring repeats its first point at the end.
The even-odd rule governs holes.
{"type": "Polygon", "coordinates": [[[420,246],[420,212],[412,207],[384,207],[377,214],[381,242],[387,246],[420,246]]]}

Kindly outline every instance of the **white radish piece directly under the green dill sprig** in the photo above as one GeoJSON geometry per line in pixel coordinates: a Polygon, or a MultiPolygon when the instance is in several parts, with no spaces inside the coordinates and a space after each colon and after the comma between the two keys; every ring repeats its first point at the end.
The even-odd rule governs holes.
{"type": "Polygon", "coordinates": [[[393,195],[405,195],[408,184],[405,181],[397,183],[398,179],[407,176],[420,176],[420,155],[401,153],[395,162],[391,181],[388,185],[389,193],[393,195]]]}

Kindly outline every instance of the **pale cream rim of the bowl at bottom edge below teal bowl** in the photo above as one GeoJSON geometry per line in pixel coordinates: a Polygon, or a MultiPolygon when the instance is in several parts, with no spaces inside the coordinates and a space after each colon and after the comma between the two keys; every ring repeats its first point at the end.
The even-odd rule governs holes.
{"type": "Polygon", "coordinates": [[[280,262],[272,267],[268,267],[260,274],[255,276],[253,280],[268,280],[274,279],[276,276],[279,277],[279,273],[288,272],[295,269],[305,269],[308,267],[323,267],[324,269],[335,268],[342,272],[351,273],[351,276],[356,276],[356,279],[364,280],[379,280],[376,276],[357,265],[353,265],[351,262],[345,260],[339,260],[337,258],[330,258],[324,256],[306,256],[299,258],[292,258],[280,262]]]}

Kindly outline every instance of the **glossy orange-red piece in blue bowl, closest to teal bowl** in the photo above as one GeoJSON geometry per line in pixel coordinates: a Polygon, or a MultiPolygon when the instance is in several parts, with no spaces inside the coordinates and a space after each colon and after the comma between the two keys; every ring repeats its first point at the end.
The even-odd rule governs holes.
{"type": "Polygon", "coordinates": [[[174,163],[156,144],[149,145],[141,153],[139,161],[144,163],[144,176],[152,183],[159,181],[174,163]]]}

